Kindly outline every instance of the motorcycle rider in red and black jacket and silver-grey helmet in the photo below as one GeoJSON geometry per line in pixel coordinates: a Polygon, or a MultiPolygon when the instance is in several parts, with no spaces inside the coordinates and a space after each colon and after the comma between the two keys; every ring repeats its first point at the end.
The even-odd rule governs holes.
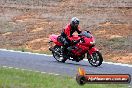
{"type": "Polygon", "coordinates": [[[65,57],[67,54],[67,48],[71,44],[71,37],[74,32],[77,32],[78,34],[81,33],[80,27],[79,27],[79,19],[77,17],[73,17],[71,19],[71,22],[66,25],[66,27],[63,29],[60,37],[63,43],[63,58],[68,58],[65,57]]]}

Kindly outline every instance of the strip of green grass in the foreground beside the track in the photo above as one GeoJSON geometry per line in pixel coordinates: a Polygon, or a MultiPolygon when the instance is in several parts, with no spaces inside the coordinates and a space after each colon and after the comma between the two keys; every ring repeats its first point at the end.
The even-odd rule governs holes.
{"type": "Polygon", "coordinates": [[[80,86],[72,77],[39,72],[0,68],[0,88],[128,88],[124,84],[85,84],[80,86]]]}

